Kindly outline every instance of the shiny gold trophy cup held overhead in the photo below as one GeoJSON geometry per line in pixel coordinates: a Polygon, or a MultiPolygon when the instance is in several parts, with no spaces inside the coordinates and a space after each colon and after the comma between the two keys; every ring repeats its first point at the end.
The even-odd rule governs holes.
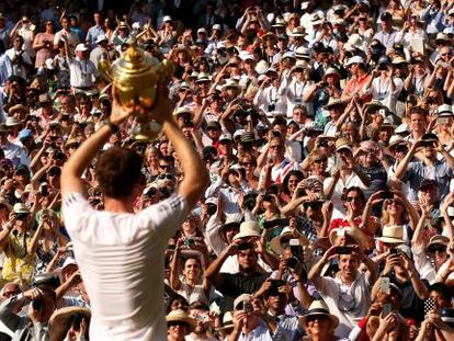
{"type": "Polygon", "coordinates": [[[118,89],[121,103],[134,102],[146,109],[146,114],[133,113],[136,125],[133,128],[133,138],[139,141],[155,140],[161,132],[151,113],[156,101],[158,84],[172,76],[174,66],[164,59],[147,56],[134,42],[126,52],[114,62],[107,55],[101,56],[99,61],[101,75],[118,89]]]}

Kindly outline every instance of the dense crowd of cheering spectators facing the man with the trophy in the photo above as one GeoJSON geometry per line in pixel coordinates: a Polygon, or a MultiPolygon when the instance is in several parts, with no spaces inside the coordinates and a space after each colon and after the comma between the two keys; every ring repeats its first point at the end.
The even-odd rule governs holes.
{"type": "MultiPolygon", "coordinates": [[[[110,115],[100,60],[130,44],[174,64],[211,175],[164,241],[169,340],[454,338],[454,1],[110,5],[0,3],[0,340],[88,340],[59,177],[110,115]]],[[[143,156],[140,211],[184,174],[163,134],[132,137],[104,149],[143,156]]]]}

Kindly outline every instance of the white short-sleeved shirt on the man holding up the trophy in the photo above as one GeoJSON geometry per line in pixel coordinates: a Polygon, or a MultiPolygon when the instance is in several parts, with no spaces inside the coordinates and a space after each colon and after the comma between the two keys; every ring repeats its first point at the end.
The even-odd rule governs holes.
{"type": "Polygon", "coordinates": [[[188,203],[178,194],[138,214],[94,211],[64,197],[65,226],[90,297],[90,340],[167,340],[163,264],[188,203]]]}

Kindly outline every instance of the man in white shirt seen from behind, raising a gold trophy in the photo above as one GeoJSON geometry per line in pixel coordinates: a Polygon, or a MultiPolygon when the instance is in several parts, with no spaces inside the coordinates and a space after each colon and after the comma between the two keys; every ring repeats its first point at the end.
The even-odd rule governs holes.
{"type": "Polygon", "coordinates": [[[112,114],[65,163],[61,196],[65,226],[90,297],[90,340],[163,340],[163,264],[167,240],[202,195],[208,175],[194,148],[177,127],[164,86],[154,117],[171,141],[184,179],[169,198],[134,213],[141,193],[141,158],[125,148],[104,150],[97,173],[105,211],[92,208],[84,196],[83,171],[139,105],[121,106],[113,89],[112,114]]]}

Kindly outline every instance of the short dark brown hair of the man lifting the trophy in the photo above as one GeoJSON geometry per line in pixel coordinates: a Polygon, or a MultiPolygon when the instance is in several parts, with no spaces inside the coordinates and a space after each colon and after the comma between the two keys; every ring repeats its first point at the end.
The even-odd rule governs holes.
{"type": "Polygon", "coordinates": [[[101,192],[113,198],[127,198],[141,180],[141,157],[132,149],[113,147],[103,151],[95,173],[101,192]]]}

